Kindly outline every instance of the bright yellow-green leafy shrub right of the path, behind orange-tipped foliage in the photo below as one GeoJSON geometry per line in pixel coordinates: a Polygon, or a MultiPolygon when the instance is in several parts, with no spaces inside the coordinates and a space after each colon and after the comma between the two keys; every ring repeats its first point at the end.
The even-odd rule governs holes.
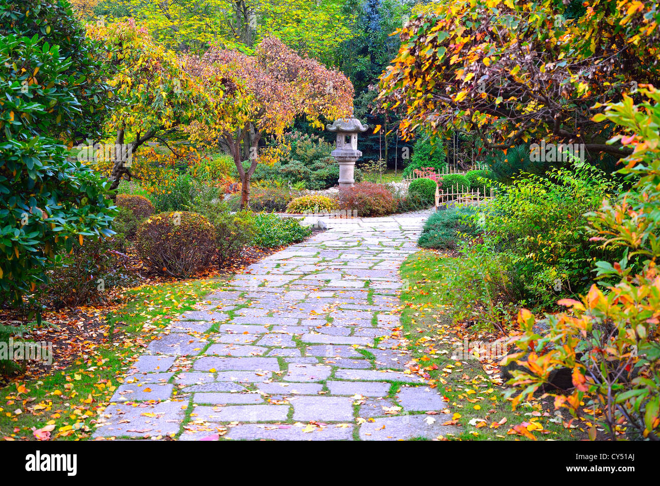
{"type": "Polygon", "coordinates": [[[584,216],[614,191],[605,174],[588,164],[524,174],[484,206],[483,243],[470,251],[484,260],[498,254],[519,298],[552,304],[557,296],[588,289],[595,259],[604,250],[589,241],[584,216]]]}

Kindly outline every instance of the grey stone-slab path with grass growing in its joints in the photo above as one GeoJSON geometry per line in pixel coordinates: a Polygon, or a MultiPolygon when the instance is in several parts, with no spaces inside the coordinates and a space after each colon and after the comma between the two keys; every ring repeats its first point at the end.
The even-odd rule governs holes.
{"type": "Polygon", "coordinates": [[[391,349],[428,212],[328,230],[236,275],[139,358],[94,437],[396,440],[460,429],[391,349]]]}

